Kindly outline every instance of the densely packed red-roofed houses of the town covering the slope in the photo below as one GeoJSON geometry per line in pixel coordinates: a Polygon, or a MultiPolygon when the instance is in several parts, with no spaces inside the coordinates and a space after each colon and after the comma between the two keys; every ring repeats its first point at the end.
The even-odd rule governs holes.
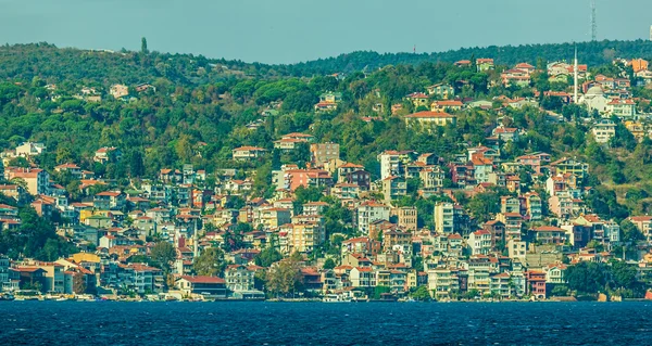
{"type": "MultiPolygon", "coordinates": [[[[460,119],[472,110],[494,114],[487,136],[457,143],[454,155],[383,148],[375,162],[347,162],[343,144],[317,141],[309,129],[268,148],[228,148],[233,165],[206,170],[187,157],[121,188],[96,170],[127,159],[125,148],[93,148],[92,157],[49,169],[39,157],[52,151],[27,140],[2,153],[2,232],[22,232],[33,209],[72,251],[50,257],[48,243],[48,260],[2,255],[1,291],[52,299],[546,300],[576,296],[566,273],[582,264],[632,272],[632,286],[648,287],[652,216],[605,217],[588,202],[597,198],[595,167],[581,157],[538,151],[505,159],[529,136],[513,115],[527,110],[551,124],[582,124],[586,141],[600,150],[611,150],[622,129],[636,143],[649,140],[650,101],[631,93],[652,87],[648,61],[613,64],[622,73],[607,77],[577,59],[499,72],[493,59],[459,61],[459,68],[499,75],[490,90],[534,87],[541,75],[552,88],[473,99],[457,94],[469,80],[442,80],[411,90],[390,110],[374,103],[377,114],[362,117],[383,123],[388,111],[414,133],[446,137],[450,128],[465,130],[460,119]],[[263,189],[260,163],[272,163],[263,189]]],[[[57,100],[58,87],[48,89],[57,100]]],[[[158,91],[113,85],[75,98],[129,103],[148,92],[158,91]]],[[[341,92],[322,92],[314,114],[346,102],[341,92]]],[[[268,126],[281,103],[261,105],[244,130],[268,126]]],[[[201,155],[205,145],[188,154],[201,155]]],[[[58,254],[63,245],[51,246],[58,254]]],[[[629,297],[623,290],[609,298],[629,297]]]]}

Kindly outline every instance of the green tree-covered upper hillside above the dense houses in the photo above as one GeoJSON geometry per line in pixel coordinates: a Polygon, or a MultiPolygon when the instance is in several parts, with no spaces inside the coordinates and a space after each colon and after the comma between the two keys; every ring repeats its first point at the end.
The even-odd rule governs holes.
{"type": "MultiPolygon", "coordinates": [[[[590,42],[579,44],[588,62],[605,61],[606,47],[616,47],[614,56],[645,56],[649,42],[590,42]],[[593,52],[590,54],[589,52],[593,52]]],[[[499,63],[530,61],[537,56],[565,55],[568,44],[501,48],[499,63]],[[518,55],[523,54],[523,55],[518,55]],[[500,60],[502,59],[502,61],[500,60]]],[[[528,152],[547,152],[553,158],[577,156],[591,165],[592,183],[610,183],[620,202],[643,212],[648,204],[626,200],[629,183],[652,193],[643,162],[631,169],[637,157],[647,157],[649,143],[637,144],[624,125],[618,125],[612,150],[591,142],[587,133],[590,115],[581,107],[559,99],[539,95],[541,108],[505,106],[510,100],[532,98],[537,90],[564,92],[567,79],[549,81],[544,71],[532,73],[531,82],[502,86],[503,67],[478,72],[474,66],[457,67],[447,62],[465,56],[490,56],[491,49],[460,50],[431,55],[385,54],[376,64],[405,62],[367,74],[297,78],[314,69],[356,69],[374,53],[353,53],[305,65],[268,66],[209,60],[187,54],[138,52],[90,52],[58,49],[51,44],[25,44],[0,49],[0,149],[12,150],[25,141],[42,142],[48,151],[37,164],[49,171],[60,164],[75,163],[83,169],[127,188],[128,178],[155,178],[160,169],[193,164],[209,172],[222,168],[240,169],[240,178],[254,180],[254,194],[271,196],[272,170],[281,164],[310,162],[306,148],[288,153],[275,150],[274,141],[290,132],[308,132],[317,142],[340,144],[340,157],[361,164],[374,179],[380,176],[377,155],[387,150],[436,153],[446,161],[466,155],[466,148],[487,145],[499,126],[517,127],[526,136],[501,150],[501,159],[511,161],[528,152]],[[421,56],[421,57],[419,57],[421,56]],[[414,63],[415,65],[411,65],[414,63]],[[348,67],[342,67],[343,65],[348,67]],[[145,89],[138,90],[146,82],[145,89]],[[450,84],[460,100],[488,100],[491,107],[466,107],[457,112],[457,126],[438,127],[435,132],[415,131],[402,116],[422,111],[406,101],[412,92],[426,92],[434,84],[450,84]],[[114,98],[110,89],[124,84],[126,94],[114,98]],[[128,88],[128,90],[127,90],[128,88]],[[337,110],[318,112],[319,95],[338,92],[337,110]],[[92,100],[91,100],[92,99],[92,100]],[[402,107],[402,110],[394,107],[402,107]],[[550,123],[547,112],[563,114],[577,121],[550,123]],[[265,113],[267,116],[263,116],[265,113]],[[272,114],[272,115],[269,115],[272,114]],[[582,119],[584,120],[580,120],[582,119]],[[255,162],[234,161],[239,146],[263,148],[272,153],[255,162]],[[92,161],[102,146],[118,148],[124,159],[101,165],[92,161]],[[626,168],[626,169],[625,169],[626,168]]],[[[650,54],[652,55],[652,54],[650,54]]],[[[585,61],[582,61],[584,63],[585,61]]],[[[540,64],[538,64],[540,65],[540,64]]],[[[593,74],[626,75],[624,67],[592,65],[593,74]]],[[[636,78],[631,81],[636,82],[636,78]]],[[[648,110],[649,90],[632,88],[637,106],[648,110]]],[[[429,102],[437,100],[430,95],[429,102]]],[[[427,106],[426,106],[427,108],[427,106]]],[[[644,124],[643,124],[644,125],[644,124]]],[[[16,164],[16,163],[13,163],[16,164]]],[[[73,181],[60,181],[72,195],[79,196],[73,181]]],[[[632,194],[629,194],[631,196],[632,194]]],[[[82,197],[82,196],[79,196],[82,197]]],[[[601,214],[618,217],[627,212],[615,204],[615,195],[600,200],[601,214]]]]}

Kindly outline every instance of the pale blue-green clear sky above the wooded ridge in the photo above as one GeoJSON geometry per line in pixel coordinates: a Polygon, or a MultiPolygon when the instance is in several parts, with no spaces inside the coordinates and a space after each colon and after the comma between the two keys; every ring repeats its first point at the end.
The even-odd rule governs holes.
{"type": "MultiPolygon", "coordinates": [[[[356,50],[582,41],[590,0],[0,0],[0,43],[48,41],[247,62],[356,50]]],[[[651,0],[597,0],[599,39],[649,38],[651,0]]]]}

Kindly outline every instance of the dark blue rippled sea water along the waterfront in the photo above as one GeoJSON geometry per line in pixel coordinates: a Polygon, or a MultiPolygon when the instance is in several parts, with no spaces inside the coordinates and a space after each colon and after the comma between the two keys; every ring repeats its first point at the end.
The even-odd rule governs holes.
{"type": "Polygon", "coordinates": [[[0,302],[0,345],[652,345],[652,304],[0,302]]]}

